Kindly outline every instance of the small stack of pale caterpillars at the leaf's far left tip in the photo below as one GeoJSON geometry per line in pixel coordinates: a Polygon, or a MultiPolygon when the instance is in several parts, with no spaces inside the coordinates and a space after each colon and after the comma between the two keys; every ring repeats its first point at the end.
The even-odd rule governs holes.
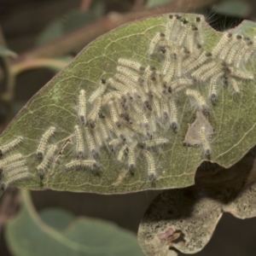
{"type": "Polygon", "coordinates": [[[20,153],[11,154],[11,151],[22,142],[23,137],[16,137],[0,146],[0,189],[3,191],[13,183],[31,177],[24,156],[20,153]]]}

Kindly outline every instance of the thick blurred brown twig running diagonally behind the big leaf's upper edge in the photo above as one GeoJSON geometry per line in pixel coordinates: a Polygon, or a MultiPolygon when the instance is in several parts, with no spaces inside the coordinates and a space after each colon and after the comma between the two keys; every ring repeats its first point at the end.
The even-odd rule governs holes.
{"type": "Polygon", "coordinates": [[[95,23],[86,25],[75,32],[58,38],[49,44],[29,50],[20,55],[16,61],[20,62],[36,58],[51,58],[66,55],[74,49],[79,49],[100,35],[109,32],[113,28],[123,25],[132,20],[142,19],[148,16],[160,15],[170,12],[189,12],[217,3],[219,0],[176,0],[154,9],[145,9],[140,12],[127,13],[125,15],[109,14],[95,23]]]}

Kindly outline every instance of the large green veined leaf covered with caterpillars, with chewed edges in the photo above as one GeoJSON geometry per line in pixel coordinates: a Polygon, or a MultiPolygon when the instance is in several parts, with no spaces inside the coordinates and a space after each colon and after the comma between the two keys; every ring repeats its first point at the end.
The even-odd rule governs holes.
{"type": "Polygon", "coordinates": [[[33,96],[0,138],[4,153],[7,151],[0,164],[6,169],[9,162],[16,165],[13,155],[18,153],[22,154],[20,160],[26,161],[19,172],[3,170],[3,189],[12,183],[26,189],[102,194],[183,188],[194,183],[196,169],[205,160],[225,168],[240,160],[256,139],[255,42],[247,38],[255,35],[255,23],[244,21],[230,31],[231,37],[228,32],[214,31],[201,15],[183,18],[189,23],[181,23],[178,16],[161,15],[109,32],[86,47],[33,96]],[[169,33],[168,40],[160,36],[166,48],[156,47],[149,56],[152,38],[159,32],[165,32],[166,37],[169,33]],[[183,37],[184,43],[177,44],[183,37]],[[168,48],[169,44],[174,46],[168,48]],[[190,47],[190,52],[182,46],[190,47]],[[168,55],[172,49],[178,52],[168,55]],[[247,55],[250,50],[251,55],[247,55]],[[204,58],[206,62],[201,62],[204,58]],[[120,70],[131,61],[148,71],[154,66],[158,73],[153,70],[150,76],[143,69],[136,72],[126,68],[126,78],[142,76],[144,82],[128,84],[125,79],[125,85],[115,92],[118,96],[115,94],[108,101],[109,93],[114,93],[109,79],[116,78],[117,67],[120,70]],[[231,63],[224,65],[223,61],[231,63]],[[164,74],[168,63],[171,66],[164,74]],[[172,70],[176,72],[175,79],[165,82],[172,70]],[[108,87],[103,94],[102,79],[107,79],[108,87]],[[92,101],[90,96],[95,92],[98,97],[92,101]],[[104,119],[98,117],[96,106],[100,106],[104,119]],[[85,118],[88,122],[84,126],[85,118]],[[120,145],[114,148],[116,141],[120,145]],[[37,155],[42,142],[48,146],[46,160],[37,155]]]}

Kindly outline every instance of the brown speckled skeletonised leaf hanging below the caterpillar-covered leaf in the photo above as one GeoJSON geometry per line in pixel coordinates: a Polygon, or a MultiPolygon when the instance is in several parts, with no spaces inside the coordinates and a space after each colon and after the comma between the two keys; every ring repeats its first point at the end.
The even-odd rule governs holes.
{"type": "Polygon", "coordinates": [[[227,170],[220,166],[199,170],[191,188],[157,196],[138,231],[144,253],[177,255],[175,248],[197,253],[210,241],[224,212],[236,218],[255,217],[255,173],[254,148],[227,170]]]}

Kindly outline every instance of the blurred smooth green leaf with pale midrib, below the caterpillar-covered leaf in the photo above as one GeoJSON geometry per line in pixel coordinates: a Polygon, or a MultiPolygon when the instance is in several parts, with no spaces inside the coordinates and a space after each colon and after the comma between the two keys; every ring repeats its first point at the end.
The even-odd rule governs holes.
{"type": "MultiPolygon", "coordinates": [[[[65,230],[59,230],[60,226],[55,230],[39,218],[27,191],[22,191],[22,197],[24,201],[20,212],[5,229],[9,249],[15,256],[143,256],[136,237],[128,231],[87,218],[77,218],[65,230]]],[[[63,212],[56,214],[67,221],[67,213],[64,218],[63,212]]],[[[52,213],[50,215],[53,216],[52,213]]]]}

